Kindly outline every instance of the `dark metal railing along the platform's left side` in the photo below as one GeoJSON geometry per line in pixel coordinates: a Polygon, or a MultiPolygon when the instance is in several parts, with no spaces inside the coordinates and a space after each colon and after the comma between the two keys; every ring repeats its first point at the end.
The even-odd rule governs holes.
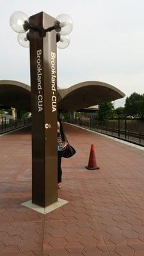
{"type": "Polygon", "coordinates": [[[29,124],[31,124],[31,118],[26,118],[24,120],[6,120],[6,118],[2,118],[0,122],[0,134],[24,127],[29,124]]]}

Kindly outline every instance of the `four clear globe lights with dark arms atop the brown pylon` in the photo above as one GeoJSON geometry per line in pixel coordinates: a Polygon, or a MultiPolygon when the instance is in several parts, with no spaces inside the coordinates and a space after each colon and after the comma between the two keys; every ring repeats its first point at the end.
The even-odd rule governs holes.
{"type": "Polygon", "coordinates": [[[56,17],[54,25],[47,29],[39,29],[36,27],[31,27],[29,24],[28,15],[23,12],[14,12],[10,17],[11,28],[19,33],[17,40],[23,47],[29,47],[29,29],[33,29],[40,33],[40,36],[45,36],[46,33],[56,30],[56,42],[57,47],[60,49],[65,49],[70,44],[70,38],[68,34],[72,31],[72,19],[67,14],[61,14],[56,17]]]}

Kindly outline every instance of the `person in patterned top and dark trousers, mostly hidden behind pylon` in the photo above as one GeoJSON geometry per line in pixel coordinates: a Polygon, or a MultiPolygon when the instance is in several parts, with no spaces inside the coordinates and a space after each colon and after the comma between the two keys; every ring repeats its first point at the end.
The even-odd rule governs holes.
{"type": "Polygon", "coordinates": [[[67,147],[67,141],[65,140],[65,134],[63,132],[63,126],[62,126],[60,120],[57,122],[57,125],[58,125],[58,131],[57,131],[57,137],[58,137],[58,188],[61,188],[61,176],[62,176],[61,157],[63,157],[63,154],[65,153],[65,149],[67,147]]]}

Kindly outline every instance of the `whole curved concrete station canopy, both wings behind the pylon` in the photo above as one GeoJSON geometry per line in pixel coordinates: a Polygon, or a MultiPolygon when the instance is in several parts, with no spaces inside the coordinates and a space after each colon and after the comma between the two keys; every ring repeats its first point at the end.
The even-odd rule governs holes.
{"type": "MultiPolygon", "coordinates": [[[[102,102],[123,98],[125,94],[111,84],[86,81],[69,88],[58,88],[58,109],[76,111],[102,102]]],[[[31,111],[31,87],[18,81],[0,80],[0,105],[31,111]]]]}

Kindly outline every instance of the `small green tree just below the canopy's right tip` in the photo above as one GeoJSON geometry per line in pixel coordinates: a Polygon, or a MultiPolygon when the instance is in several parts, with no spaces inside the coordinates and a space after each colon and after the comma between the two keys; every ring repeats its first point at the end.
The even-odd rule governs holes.
{"type": "Polygon", "coordinates": [[[114,115],[115,111],[112,102],[104,102],[99,104],[99,120],[113,119],[114,115]]]}

